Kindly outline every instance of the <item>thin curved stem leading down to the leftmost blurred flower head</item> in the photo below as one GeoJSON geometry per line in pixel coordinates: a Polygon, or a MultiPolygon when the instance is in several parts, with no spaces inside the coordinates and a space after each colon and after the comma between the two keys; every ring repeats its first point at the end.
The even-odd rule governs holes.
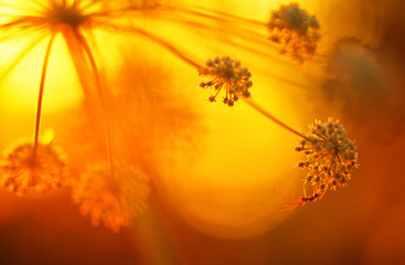
{"type": "Polygon", "coordinates": [[[44,93],[44,87],[45,87],[45,77],[46,77],[47,63],[50,61],[50,54],[51,54],[51,49],[52,49],[52,44],[53,44],[54,39],[55,39],[55,33],[53,32],[52,36],[51,36],[51,40],[50,40],[50,42],[46,46],[44,62],[43,62],[43,65],[42,65],[40,91],[39,91],[39,95],[38,95],[38,105],[36,105],[35,136],[34,136],[34,151],[33,151],[34,156],[36,153],[38,140],[39,140],[39,137],[40,137],[42,98],[43,98],[43,93],[44,93]]]}

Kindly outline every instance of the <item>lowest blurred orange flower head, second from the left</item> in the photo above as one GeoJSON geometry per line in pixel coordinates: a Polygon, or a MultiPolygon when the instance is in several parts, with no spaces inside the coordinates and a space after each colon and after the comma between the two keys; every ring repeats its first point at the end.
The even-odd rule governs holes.
{"type": "Polygon", "coordinates": [[[106,227],[118,232],[146,209],[147,181],[128,165],[115,163],[114,171],[108,163],[96,165],[72,186],[73,199],[81,204],[83,214],[90,215],[93,225],[103,221],[106,227]]]}

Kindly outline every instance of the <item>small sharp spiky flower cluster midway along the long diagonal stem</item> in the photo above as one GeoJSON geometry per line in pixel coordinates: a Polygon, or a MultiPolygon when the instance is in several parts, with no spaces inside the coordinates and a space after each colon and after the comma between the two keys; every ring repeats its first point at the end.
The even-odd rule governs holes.
{"type": "Polygon", "coordinates": [[[215,102],[221,89],[225,87],[226,94],[223,103],[230,107],[234,106],[239,97],[249,97],[252,87],[251,72],[241,66],[241,62],[228,56],[215,57],[206,62],[206,67],[200,70],[200,75],[209,76],[213,80],[202,82],[201,87],[214,88],[215,94],[209,97],[210,102],[215,102]]]}

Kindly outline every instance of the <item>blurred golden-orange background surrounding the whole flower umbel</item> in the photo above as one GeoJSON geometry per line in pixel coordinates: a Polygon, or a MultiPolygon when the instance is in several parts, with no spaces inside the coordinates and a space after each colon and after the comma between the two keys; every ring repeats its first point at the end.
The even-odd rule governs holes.
{"type": "MultiPolygon", "coordinates": [[[[263,22],[283,3],[288,1],[171,1],[263,22]]],[[[359,151],[360,168],[348,187],[294,211],[264,208],[281,208],[275,190],[301,193],[305,172],[292,148],[299,139],[244,102],[232,108],[210,103],[198,71],[157,43],[95,29],[92,47],[111,89],[113,144],[120,157],[154,173],[149,206],[114,233],[92,226],[68,188],[24,197],[1,189],[0,264],[403,263],[403,3],[299,3],[318,18],[322,34],[317,54],[302,65],[266,44],[265,28],[244,31],[232,20],[209,24],[190,17],[206,23],[199,28],[170,19],[175,12],[150,13],[137,23],[200,64],[216,55],[239,60],[253,73],[256,102],[299,131],[316,118],[339,118],[359,151]],[[142,88],[130,93],[137,86],[142,88]]],[[[2,65],[21,49],[19,38],[31,36],[0,43],[2,65]]],[[[45,46],[35,46],[0,83],[1,150],[31,139],[45,46]]],[[[86,137],[96,142],[103,134],[85,127],[84,94],[62,35],[49,64],[41,135],[54,134],[74,178],[104,151],[86,137]]]]}

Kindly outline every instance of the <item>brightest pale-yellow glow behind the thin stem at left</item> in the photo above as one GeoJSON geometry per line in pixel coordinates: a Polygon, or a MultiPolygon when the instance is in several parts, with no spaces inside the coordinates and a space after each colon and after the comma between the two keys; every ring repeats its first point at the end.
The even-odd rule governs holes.
{"type": "MultiPolygon", "coordinates": [[[[8,46],[23,40],[13,40],[8,46]]],[[[1,107],[9,112],[32,113],[36,107],[39,77],[44,57],[45,42],[24,56],[22,62],[3,81],[1,107]]],[[[44,95],[44,112],[52,114],[78,104],[82,99],[78,80],[70,60],[66,44],[60,35],[50,59],[49,78],[44,95]]]]}

